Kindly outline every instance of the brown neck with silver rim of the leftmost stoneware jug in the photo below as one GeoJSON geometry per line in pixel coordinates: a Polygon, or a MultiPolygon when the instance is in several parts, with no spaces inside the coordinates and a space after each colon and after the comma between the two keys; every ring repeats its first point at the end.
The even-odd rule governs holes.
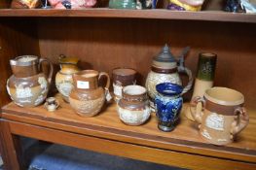
{"type": "Polygon", "coordinates": [[[39,74],[39,59],[34,55],[22,55],[10,60],[13,74],[17,78],[26,78],[39,74]]]}

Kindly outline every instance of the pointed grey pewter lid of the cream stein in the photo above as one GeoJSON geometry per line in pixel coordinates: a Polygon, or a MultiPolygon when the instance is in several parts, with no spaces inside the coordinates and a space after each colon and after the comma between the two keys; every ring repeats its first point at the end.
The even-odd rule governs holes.
{"type": "Polygon", "coordinates": [[[170,48],[166,44],[162,51],[153,58],[153,66],[166,69],[177,67],[177,60],[170,52],[170,48]]]}

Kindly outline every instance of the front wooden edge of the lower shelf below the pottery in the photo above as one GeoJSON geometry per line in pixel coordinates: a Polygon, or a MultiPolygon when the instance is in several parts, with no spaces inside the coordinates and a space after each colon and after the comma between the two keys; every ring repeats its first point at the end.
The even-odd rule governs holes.
{"type": "Polygon", "coordinates": [[[221,148],[211,144],[201,144],[194,141],[184,141],[175,138],[165,138],[164,136],[152,136],[139,132],[128,132],[127,130],[118,130],[112,127],[104,127],[100,124],[71,122],[70,120],[60,120],[47,116],[34,115],[33,112],[18,112],[12,110],[13,103],[2,108],[2,119],[25,122],[31,125],[40,125],[51,129],[63,130],[72,133],[94,136],[126,142],[135,145],[153,147],[163,150],[176,151],[181,153],[196,153],[201,155],[214,156],[219,158],[229,158],[244,162],[256,162],[255,151],[236,149],[230,146],[221,148]],[[46,123],[47,122],[47,123],[46,123]]]}

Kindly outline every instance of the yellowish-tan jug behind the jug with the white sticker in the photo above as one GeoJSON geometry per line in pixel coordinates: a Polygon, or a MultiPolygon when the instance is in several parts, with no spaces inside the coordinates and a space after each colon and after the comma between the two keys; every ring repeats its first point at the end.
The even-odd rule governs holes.
{"type": "Polygon", "coordinates": [[[77,66],[78,61],[76,57],[64,55],[60,55],[58,60],[60,70],[55,76],[55,85],[65,102],[69,102],[68,97],[74,86],[72,75],[80,71],[77,66]]]}

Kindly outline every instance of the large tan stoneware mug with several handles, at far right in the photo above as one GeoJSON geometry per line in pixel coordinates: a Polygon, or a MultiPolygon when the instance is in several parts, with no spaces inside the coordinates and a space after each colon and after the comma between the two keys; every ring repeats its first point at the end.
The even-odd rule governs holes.
{"type": "Polygon", "coordinates": [[[219,86],[207,89],[203,97],[194,97],[190,110],[192,117],[200,123],[201,137],[214,145],[233,142],[249,122],[243,103],[244,96],[240,92],[219,86]]]}

